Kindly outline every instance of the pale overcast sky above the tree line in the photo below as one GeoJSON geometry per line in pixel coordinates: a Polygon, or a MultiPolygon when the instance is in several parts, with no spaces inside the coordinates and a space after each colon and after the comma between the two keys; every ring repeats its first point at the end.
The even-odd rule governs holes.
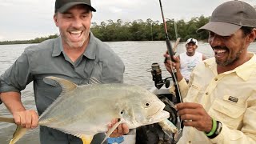
{"type": "MultiPolygon", "coordinates": [[[[165,18],[175,20],[210,16],[211,12],[227,0],[162,0],[165,18]]],[[[243,0],[255,6],[256,0],[243,0]]],[[[28,40],[58,34],[54,25],[55,0],[0,0],[0,41],[28,40]]],[[[93,22],[122,19],[133,22],[147,18],[162,22],[158,0],[91,0],[97,10],[93,22]]]]}

